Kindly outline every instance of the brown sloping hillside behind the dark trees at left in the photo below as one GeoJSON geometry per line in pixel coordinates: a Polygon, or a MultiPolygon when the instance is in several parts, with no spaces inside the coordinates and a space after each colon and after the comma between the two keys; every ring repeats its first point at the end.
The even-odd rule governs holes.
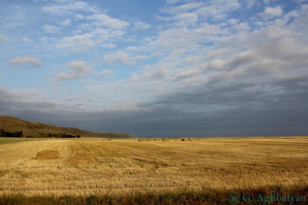
{"type": "Polygon", "coordinates": [[[101,138],[133,138],[126,133],[114,132],[90,132],[78,128],[57,127],[40,122],[29,122],[15,117],[0,115],[0,128],[6,131],[16,132],[22,130],[23,135],[36,135],[40,133],[66,133],[71,135],[80,135],[81,137],[101,137],[101,138]]]}

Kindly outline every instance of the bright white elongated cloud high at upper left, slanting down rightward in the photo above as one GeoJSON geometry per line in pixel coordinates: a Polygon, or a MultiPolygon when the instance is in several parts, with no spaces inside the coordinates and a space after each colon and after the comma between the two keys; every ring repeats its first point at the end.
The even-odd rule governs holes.
{"type": "Polygon", "coordinates": [[[95,20],[96,24],[98,24],[99,26],[104,26],[109,29],[115,29],[115,30],[125,29],[129,25],[128,22],[121,21],[117,18],[111,18],[106,14],[94,14],[92,16],[87,16],[86,19],[95,20]]]}

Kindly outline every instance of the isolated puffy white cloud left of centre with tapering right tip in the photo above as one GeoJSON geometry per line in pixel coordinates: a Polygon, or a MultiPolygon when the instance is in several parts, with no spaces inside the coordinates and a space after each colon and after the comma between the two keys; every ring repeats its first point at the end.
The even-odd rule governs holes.
{"type": "Polygon", "coordinates": [[[118,50],[118,52],[115,53],[115,54],[105,55],[104,59],[108,63],[120,62],[124,65],[134,65],[134,64],[136,64],[135,61],[144,59],[146,57],[147,56],[145,56],[145,55],[137,55],[137,56],[131,57],[131,56],[129,56],[128,53],[125,53],[122,50],[118,50]]]}

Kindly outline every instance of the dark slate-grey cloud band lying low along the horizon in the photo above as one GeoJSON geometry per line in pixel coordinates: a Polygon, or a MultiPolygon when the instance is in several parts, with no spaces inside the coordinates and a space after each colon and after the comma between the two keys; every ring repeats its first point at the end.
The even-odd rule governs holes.
{"type": "MultiPolygon", "coordinates": [[[[134,110],[87,112],[47,102],[14,100],[0,89],[0,114],[57,126],[101,132],[128,132],[153,136],[262,136],[306,135],[308,132],[307,76],[276,82],[288,91],[266,94],[245,92],[243,85],[174,93],[134,110]],[[291,91],[290,91],[291,90],[291,91]],[[6,100],[5,100],[6,99],[6,100]],[[207,106],[227,104],[212,111],[207,106]],[[184,111],[183,104],[202,105],[206,111],[184,111]]],[[[247,85],[245,86],[247,87],[247,85]]]]}

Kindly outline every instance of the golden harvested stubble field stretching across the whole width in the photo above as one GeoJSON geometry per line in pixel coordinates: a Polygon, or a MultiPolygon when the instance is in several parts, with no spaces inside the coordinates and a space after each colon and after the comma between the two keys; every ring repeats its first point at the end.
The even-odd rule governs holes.
{"type": "Polygon", "coordinates": [[[0,160],[1,195],[123,195],[308,183],[305,136],[24,140],[1,144],[0,160]]]}

